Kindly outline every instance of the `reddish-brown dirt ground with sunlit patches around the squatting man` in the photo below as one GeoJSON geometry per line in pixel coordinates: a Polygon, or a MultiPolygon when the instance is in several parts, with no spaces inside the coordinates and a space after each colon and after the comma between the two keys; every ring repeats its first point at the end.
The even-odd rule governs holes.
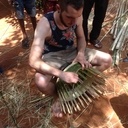
{"type": "MultiPolygon", "coordinates": [[[[35,95],[38,97],[40,92],[37,90],[35,83],[33,82],[35,71],[28,65],[29,49],[25,50],[21,48],[22,33],[17,20],[14,18],[13,10],[8,5],[7,1],[0,1],[0,12],[0,72],[4,74],[0,76],[0,79],[2,81],[2,79],[6,77],[7,81],[18,79],[18,82],[25,80],[25,83],[23,84],[25,84],[24,88],[26,90],[29,88],[31,95],[29,95],[29,97],[35,95]],[[29,80],[31,80],[31,82],[29,80]],[[28,85],[28,83],[31,83],[31,85],[28,85]]],[[[42,14],[43,12],[41,10],[37,11],[37,20],[40,19],[42,14]]],[[[109,17],[107,20],[112,19],[113,16],[109,17]]],[[[32,42],[33,29],[27,15],[25,21],[26,30],[30,42],[32,42]]],[[[102,29],[100,38],[102,38],[108,28],[109,26],[102,29]]],[[[112,42],[112,36],[108,34],[102,41],[103,48],[101,51],[110,53],[109,48],[112,42]]],[[[122,57],[125,57],[123,53],[122,57]]],[[[111,67],[104,73],[108,76],[107,80],[109,81],[104,96],[95,99],[86,109],[74,113],[73,115],[64,115],[61,119],[52,118],[51,120],[54,126],[51,126],[51,128],[128,128],[128,63],[120,61],[118,67],[111,67]]],[[[2,89],[6,86],[3,85],[4,84],[1,82],[2,89]]],[[[5,122],[4,118],[8,119],[9,116],[6,115],[8,109],[5,109],[6,111],[4,110],[3,114],[1,112],[3,111],[2,104],[0,106],[0,128],[2,128],[2,125],[4,128],[18,127],[14,125],[15,123],[9,123],[7,120],[5,122]]],[[[22,113],[22,111],[19,113],[22,113]]],[[[33,117],[29,121],[27,118],[27,121],[25,119],[22,119],[21,121],[18,118],[18,124],[21,124],[22,122],[22,128],[37,128],[39,124],[35,127],[34,124],[35,122],[37,123],[40,121],[39,118],[36,117],[36,114],[33,115],[31,112],[25,112],[22,114],[23,116],[33,115],[33,117]]],[[[20,117],[20,119],[21,118],[22,117],[20,117]]],[[[50,128],[50,126],[48,128],[50,128]]]]}

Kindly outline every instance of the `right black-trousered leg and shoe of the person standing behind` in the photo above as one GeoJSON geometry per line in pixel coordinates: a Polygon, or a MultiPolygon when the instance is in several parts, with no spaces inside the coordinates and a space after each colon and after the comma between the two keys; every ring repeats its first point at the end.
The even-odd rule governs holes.
{"type": "Polygon", "coordinates": [[[101,32],[102,23],[106,15],[109,0],[96,0],[94,10],[94,20],[92,25],[92,31],[90,33],[90,42],[96,47],[101,48],[101,42],[98,37],[101,32]]]}

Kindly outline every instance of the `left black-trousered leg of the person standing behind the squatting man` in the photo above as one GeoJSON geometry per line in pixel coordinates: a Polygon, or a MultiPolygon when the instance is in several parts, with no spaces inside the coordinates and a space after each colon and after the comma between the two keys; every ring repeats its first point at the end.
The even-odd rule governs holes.
{"type": "Polygon", "coordinates": [[[84,1],[84,10],[83,10],[83,29],[85,39],[88,42],[88,17],[93,7],[94,0],[85,0],[84,1]]]}

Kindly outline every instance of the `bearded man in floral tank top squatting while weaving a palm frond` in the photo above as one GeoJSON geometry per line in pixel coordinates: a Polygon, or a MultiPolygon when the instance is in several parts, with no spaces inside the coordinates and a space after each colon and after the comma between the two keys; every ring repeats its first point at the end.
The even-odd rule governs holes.
{"type": "MultiPolygon", "coordinates": [[[[38,89],[55,98],[56,88],[52,77],[56,76],[67,83],[77,83],[78,75],[64,72],[60,68],[67,62],[78,62],[82,68],[97,65],[103,71],[112,62],[107,53],[86,49],[82,27],[84,0],[59,0],[57,10],[47,13],[38,22],[31,47],[29,63],[36,69],[35,82],[38,89]],[[76,46],[74,40],[77,40],[76,46]],[[42,57],[43,55],[43,57],[42,57]]],[[[54,116],[62,117],[59,100],[52,107],[54,116]]]]}

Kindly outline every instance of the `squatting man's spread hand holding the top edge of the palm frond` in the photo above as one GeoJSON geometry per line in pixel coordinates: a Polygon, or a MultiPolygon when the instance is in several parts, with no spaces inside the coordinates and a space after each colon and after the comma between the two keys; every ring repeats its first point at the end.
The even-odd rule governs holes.
{"type": "Polygon", "coordinates": [[[76,58],[73,60],[73,63],[76,63],[76,62],[81,64],[82,69],[92,67],[90,62],[85,59],[85,55],[83,53],[78,53],[76,58]]]}

